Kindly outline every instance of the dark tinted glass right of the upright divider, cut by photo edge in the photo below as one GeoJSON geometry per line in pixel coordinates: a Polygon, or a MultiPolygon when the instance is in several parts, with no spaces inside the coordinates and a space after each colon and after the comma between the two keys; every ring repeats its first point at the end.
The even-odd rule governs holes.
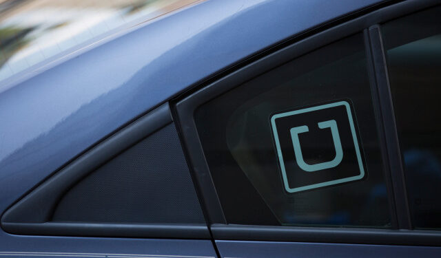
{"type": "Polygon", "coordinates": [[[413,224],[441,228],[441,8],[382,33],[413,224]]]}

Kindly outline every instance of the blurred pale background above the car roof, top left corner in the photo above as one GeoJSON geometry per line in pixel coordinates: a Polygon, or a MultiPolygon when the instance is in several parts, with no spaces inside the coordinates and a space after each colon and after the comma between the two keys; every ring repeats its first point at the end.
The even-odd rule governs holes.
{"type": "Polygon", "coordinates": [[[0,0],[0,81],[198,0],[0,0]]]}

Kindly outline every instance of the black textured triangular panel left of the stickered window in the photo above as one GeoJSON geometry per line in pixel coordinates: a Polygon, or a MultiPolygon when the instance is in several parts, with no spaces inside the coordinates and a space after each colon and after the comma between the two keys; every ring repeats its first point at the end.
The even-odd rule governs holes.
{"type": "Polygon", "coordinates": [[[74,185],[61,198],[52,220],[205,224],[174,124],[74,185]]]}

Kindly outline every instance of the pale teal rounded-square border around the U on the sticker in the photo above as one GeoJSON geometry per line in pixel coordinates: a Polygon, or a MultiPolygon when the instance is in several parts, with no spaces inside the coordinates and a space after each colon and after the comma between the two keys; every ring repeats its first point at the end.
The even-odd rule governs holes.
{"type": "Polygon", "coordinates": [[[355,181],[355,180],[360,180],[360,179],[365,177],[365,168],[364,168],[363,162],[362,162],[361,151],[360,151],[360,146],[358,144],[358,138],[357,138],[357,133],[356,133],[355,125],[353,125],[353,118],[352,118],[351,107],[349,106],[349,103],[347,103],[347,101],[338,101],[336,103],[329,103],[329,104],[325,104],[325,105],[318,105],[318,106],[314,106],[314,107],[307,107],[305,109],[298,109],[298,110],[294,110],[294,111],[287,111],[287,112],[283,112],[283,113],[279,113],[279,114],[274,114],[273,116],[271,116],[270,121],[271,121],[271,129],[273,131],[273,136],[274,136],[274,142],[276,143],[276,151],[277,151],[277,156],[278,156],[278,162],[279,162],[279,165],[280,165],[280,170],[282,172],[283,185],[285,186],[285,191],[287,191],[288,193],[298,193],[300,191],[307,191],[307,190],[311,190],[311,189],[317,189],[317,188],[324,187],[324,186],[331,186],[331,185],[334,185],[334,184],[342,184],[342,183],[345,183],[345,182],[351,182],[351,181],[355,181]],[[296,188],[291,189],[289,187],[289,184],[288,184],[287,173],[286,173],[286,170],[285,170],[285,162],[283,162],[282,150],[280,149],[280,142],[278,140],[278,133],[277,133],[277,128],[276,128],[276,119],[277,118],[283,118],[285,116],[294,116],[294,115],[297,115],[297,114],[307,113],[307,112],[310,112],[310,111],[316,111],[316,110],[320,110],[320,109],[327,109],[327,108],[338,107],[338,106],[345,106],[346,111],[347,111],[347,116],[349,118],[349,126],[351,127],[353,146],[354,146],[355,151],[356,151],[356,156],[357,156],[357,161],[358,161],[358,168],[360,169],[360,174],[359,175],[351,176],[349,178],[340,178],[338,180],[331,180],[331,181],[321,182],[321,183],[317,183],[317,184],[310,184],[308,186],[300,186],[300,187],[296,187],[296,188]]]}

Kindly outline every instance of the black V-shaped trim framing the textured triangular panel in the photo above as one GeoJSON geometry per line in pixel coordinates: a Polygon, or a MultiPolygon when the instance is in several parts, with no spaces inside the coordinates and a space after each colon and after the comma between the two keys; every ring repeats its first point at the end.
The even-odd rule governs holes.
{"type": "Polygon", "coordinates": [[[79,158],[44,180],[1,216],[1,228],[18,235],[82,237],[154,237],[210,239],[205,224],[139,224],[52,222],[52,213],[65,189],[84,178],[143,138],[173,122],[165,103],[103,140],[79,158]]]}

